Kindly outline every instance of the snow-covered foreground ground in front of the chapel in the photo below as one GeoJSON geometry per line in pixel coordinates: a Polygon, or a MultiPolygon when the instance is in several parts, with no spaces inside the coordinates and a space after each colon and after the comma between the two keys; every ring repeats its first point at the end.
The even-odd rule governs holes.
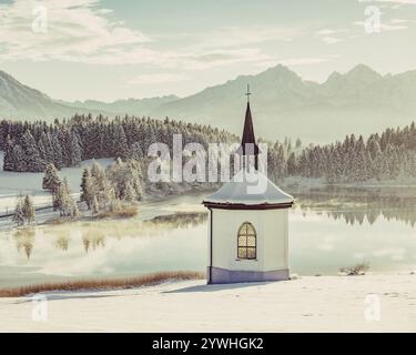
{"type": "Polygon", "coordinates": [[[416,275],[308,276],[231,285],[184,281],[125,291],[50,293],[48,300],[41,306],[31,297],[0,298],[0,331],[416,331],[416,275]],[[47,313],[39,313],[42,310],[47,313]],[[48,320],[33,321],[32,314],[47,314],[48,320]]]}

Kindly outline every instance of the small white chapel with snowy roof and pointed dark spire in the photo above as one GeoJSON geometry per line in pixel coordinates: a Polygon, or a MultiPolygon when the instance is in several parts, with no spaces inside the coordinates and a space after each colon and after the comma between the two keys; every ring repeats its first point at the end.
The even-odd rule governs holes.
{"type": "Polygon", "coordinates": [[[209,209],[207,283],[288,280],[287,224],[294,199],[258,171],[262,152],[255,142],[250,100],[236,154],[244,162],[254,160],[254,166],[243,164],[203,201],[209,209]]]}

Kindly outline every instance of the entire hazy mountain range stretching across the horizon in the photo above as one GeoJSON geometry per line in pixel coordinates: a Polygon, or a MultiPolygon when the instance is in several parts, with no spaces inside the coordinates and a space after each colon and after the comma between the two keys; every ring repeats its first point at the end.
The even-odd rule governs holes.
{"type": "Polygon", "coordinates": [[[328,142],[349,133],[409,124],[416,113],[416,71],[382,75],[358,64],[317,83],[278,64],[182,99],[169,95],[112,103],[52,100],[0,71],[0,118],[52,120],[75,112],[129,113],[211,124],[239,134],[247,84],[256,135],[270,140],[298,136],[304,142],[328,142]]]}

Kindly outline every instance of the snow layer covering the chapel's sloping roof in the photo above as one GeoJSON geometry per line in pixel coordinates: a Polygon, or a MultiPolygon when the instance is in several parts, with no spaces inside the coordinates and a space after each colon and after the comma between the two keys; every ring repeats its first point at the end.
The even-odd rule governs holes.
{"type": "Polygon", "coordinates": [[[284,204],[293,201],[293,196],[278,189],[262,172],[241,170],[230,182],[207,196],[204,203],[257,205],[284,204]]]}

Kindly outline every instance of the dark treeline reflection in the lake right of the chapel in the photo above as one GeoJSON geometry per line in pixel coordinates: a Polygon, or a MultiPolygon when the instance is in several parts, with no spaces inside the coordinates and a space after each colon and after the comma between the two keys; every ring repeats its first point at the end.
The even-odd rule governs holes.
{"type": "Polygon", "coordinates": [[[324,211],[335,221],[362,225],[365,220],[374,224],[379,217],[387,221],[416,224],[416,190],[396,189],[388,191],[363,189],[312,190],[296,195],[296,205],[307,211],[324,211]]]}

